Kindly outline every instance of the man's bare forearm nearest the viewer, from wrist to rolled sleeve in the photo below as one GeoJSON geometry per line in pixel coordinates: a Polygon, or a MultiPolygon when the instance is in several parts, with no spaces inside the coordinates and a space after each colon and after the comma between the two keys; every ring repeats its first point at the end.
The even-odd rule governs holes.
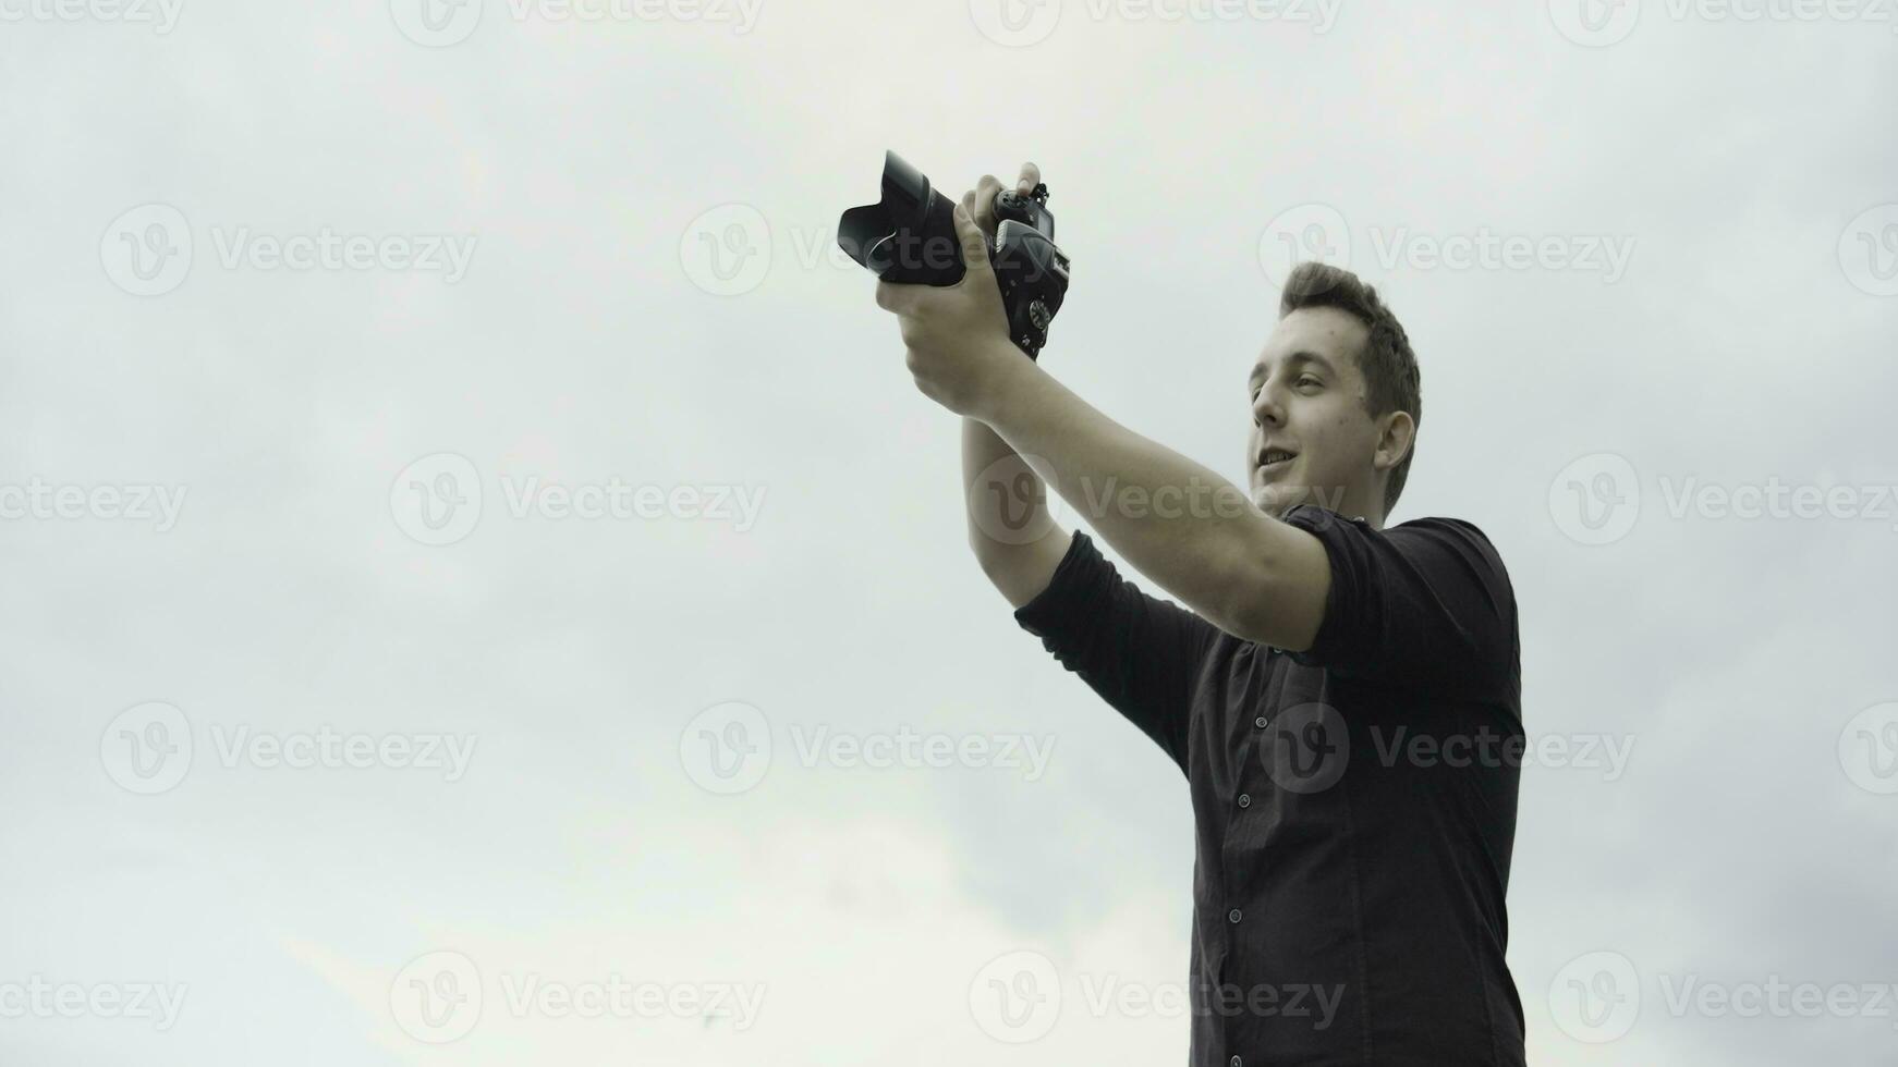
{"type": "Polygon", "coordinates": [[[1201,618],[1237,633],[1262,553],[1275,542],[1245,493],[1198,462],[1114,423],[1038,364],[1019,360],[972,413],[1023,457],[1122,557],[1201,618]]]}

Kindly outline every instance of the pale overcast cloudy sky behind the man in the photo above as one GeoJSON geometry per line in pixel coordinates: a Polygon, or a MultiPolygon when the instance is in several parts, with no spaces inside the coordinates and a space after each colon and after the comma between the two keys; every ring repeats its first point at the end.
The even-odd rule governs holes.
{"type": "Polygon", "coordinates": [[[1403,316],[1391,521],[1522,612],[1534,1063],[1890,1063],[1894,30],[0,0],[0,1059],[1184,1056],[1179,771],[833,252],[896,150],[1040,163],[1044,364],[1234,479],[1294,258],[1403,316]]]}

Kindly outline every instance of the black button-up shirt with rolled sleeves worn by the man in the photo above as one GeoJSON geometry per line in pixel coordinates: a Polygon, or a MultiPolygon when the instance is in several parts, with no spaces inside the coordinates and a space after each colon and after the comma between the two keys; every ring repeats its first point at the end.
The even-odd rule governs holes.
{"type": "Polygon", "coordinates": [[[1522,766],[1517,603],[1477,527],[1317,506],[1306,652],[1232,637],[1074,533],[1023,629],[1186,773],[1194,1065],[1520,1065],[1503,893],[1522,766]]]}

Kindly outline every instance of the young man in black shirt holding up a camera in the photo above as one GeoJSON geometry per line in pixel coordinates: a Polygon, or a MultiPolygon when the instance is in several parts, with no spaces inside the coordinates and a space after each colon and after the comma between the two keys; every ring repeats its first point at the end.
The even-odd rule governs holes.
{"type": "Polygon", "coordinates": [[[998,188],[957,210],[958,286],[879,282],[877,303],[964,415],[983,572],[1186,775],[1190,1061],[1520,1065],[1515,593],[1477,527],[1384,525],[1422,413],[1403,326],[1357,277],[1294,271],[1247,381],[1247,495],[1010,343],[981,254],[998,188]],[[1184,606],[1059,529],[1042,479],[1184,606]]]}

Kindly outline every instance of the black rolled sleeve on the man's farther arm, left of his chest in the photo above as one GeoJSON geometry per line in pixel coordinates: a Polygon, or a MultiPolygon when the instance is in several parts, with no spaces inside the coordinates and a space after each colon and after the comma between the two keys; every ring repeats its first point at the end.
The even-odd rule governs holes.
{"type": "Polygon", "coordinates": [[[1015,622],[1186,769],[1188,707],[1213,624],[1143,593],[1082,531],[1015,622]]]}

